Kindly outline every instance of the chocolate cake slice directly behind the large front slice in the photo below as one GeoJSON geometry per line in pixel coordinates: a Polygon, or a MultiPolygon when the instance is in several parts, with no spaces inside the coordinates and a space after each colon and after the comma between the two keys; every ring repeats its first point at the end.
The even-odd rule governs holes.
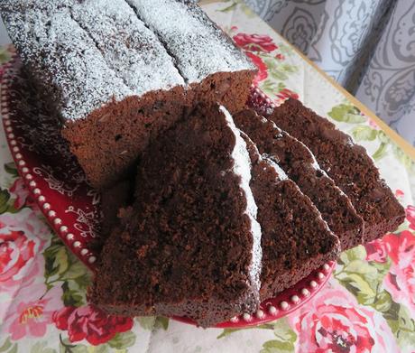
{"type": "Polygon", "coordinates": [[[252,163],[250,182],[262,229],[261,300],[290,288],[339,253],[339,240],[318,209],[277,163],[242,133],[252,163]]]}

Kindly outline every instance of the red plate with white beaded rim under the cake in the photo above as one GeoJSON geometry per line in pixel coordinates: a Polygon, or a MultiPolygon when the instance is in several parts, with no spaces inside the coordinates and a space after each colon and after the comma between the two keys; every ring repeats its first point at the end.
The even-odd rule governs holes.
{"type": "MultiPolygon", "coordinates": [[[[4,65],[1,78],[1,115],[14,162],[51,228],[78,258],[94,270],[99,243],[99,194],[92,189],[68,146],[48,115],[36,90],[14,58],[4,65]]],[[[251,105],[263,111],[271,104],[253,88],[251,105]]],[[[264,301],[254,315],[241,314],[218,328],[241,328],[276,320],[296,311],[327,282],[334,263],[324,265],[278,297],[264,301]]],[[[174,320],[194,324],[187,318],[174,320]]]]}

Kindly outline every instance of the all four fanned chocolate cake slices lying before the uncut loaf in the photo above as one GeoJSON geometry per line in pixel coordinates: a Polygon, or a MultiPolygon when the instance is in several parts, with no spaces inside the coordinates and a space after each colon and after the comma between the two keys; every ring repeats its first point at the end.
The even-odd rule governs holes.
{"type": "Polygon", "coordinates": [[[203,327],[254,312],[405,215],[364,149],[293,100],[269,116],[196,107],[143,153],[133,185],[120,182],[103,202],[112,226],[91,301],[124,315],[188,316],[203,327]],[[296,116],[287,114],[291,106],[296,116]],[[300,121],[292,135],[276,125],[281,116],[300,121]],[[320,146],[341,146],[330,164],[296,134],[308,116],[320,146]],[[327,139],[323,126],[347,143],[327,139]],[[343,183],[335,172],[342,168],[343,183]],[[376,227],[367,209],[382,214],[376,227]]]}

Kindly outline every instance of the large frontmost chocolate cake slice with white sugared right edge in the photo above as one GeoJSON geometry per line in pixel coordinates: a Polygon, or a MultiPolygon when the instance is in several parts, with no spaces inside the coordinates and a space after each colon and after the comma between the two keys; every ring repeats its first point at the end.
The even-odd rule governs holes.
{"type": "Polygon", "coordinates": [[[201,107],[143,153],[135,202],[100,256],[90,300],[203,327],[259,303],[261,228],[246,144],[225,108],[201,107]]]}

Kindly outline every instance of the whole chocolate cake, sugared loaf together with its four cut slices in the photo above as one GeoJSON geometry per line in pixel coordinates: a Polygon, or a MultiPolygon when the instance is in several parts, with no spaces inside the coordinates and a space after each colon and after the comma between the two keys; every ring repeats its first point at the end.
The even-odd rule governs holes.
{"type": "Polygon", "coordinates": [[[208,327],[291,287],[404,209],[363,147],[289,99],[187,0],[4,0],[24,69],[92,185],[89,300],[208,327]]]}

